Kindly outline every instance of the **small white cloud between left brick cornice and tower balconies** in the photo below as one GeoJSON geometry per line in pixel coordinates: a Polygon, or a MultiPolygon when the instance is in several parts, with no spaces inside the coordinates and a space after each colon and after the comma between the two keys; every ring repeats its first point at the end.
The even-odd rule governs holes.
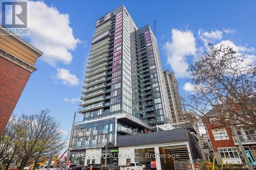
{"type": "Polygon", "coordinates": [[[57,73],[53,76],[56,80],[61,80],[62,84],[65,85],[78,85],[79,79],[76,77],[76,75],[70,74],[69,70],[63,69],[63,68],[57,68],[57,73]]]}

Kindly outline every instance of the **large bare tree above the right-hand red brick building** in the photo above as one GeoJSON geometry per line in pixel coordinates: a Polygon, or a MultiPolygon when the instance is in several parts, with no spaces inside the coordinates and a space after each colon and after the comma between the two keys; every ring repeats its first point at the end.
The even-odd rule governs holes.
{"type": "Polygon", "coordinates": [[[207,115],[215,126],[256,127],[256,67],[244,58],[229,46],[209,44],[209,52],[189,67],[194,93],[185,95],[183,102],[193,114],[185,114],[185,119],[201,123],[215,107],[216,114],[207,115]]]}

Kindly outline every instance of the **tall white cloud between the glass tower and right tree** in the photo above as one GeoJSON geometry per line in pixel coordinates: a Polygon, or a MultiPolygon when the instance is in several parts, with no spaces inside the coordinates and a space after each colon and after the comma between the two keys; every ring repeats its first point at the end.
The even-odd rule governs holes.
{"type": "Polygon", "coordinates": [[[177,78],[188,77],[186,56],[196,55],[196,38],[190,30],[172,30],[172,42],[164,44],[167,62],[177,78]]]}

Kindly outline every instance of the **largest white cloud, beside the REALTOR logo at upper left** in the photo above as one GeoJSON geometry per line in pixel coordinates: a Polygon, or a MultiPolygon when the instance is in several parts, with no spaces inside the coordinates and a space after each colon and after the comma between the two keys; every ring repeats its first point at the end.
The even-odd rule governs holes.
{"type": "Polygon", "coordinates": [[[69,15],[44,2],[30,2],[31,43],[44,53],[42,60],[55,66],[58,62],[69,64],[79,39],[74,38],[69,15]]]}

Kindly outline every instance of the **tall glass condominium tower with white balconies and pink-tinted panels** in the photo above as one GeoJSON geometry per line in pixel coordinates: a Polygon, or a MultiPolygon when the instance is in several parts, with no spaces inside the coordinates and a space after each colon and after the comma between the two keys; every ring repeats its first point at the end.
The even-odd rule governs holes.
{"type": "Polygon", "coordinates": [[[116,137],[172,123],[156,38],[124,6],[96,21],[72,149],[116,144],[116,137]]]}

